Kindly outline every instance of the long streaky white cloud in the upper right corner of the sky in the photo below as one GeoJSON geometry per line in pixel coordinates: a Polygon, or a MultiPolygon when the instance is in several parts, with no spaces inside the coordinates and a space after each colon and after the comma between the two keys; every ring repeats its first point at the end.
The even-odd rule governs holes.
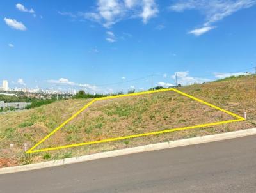
{"type": "Polygon", "coordinates": [[[199,10],[200,13],[205,15],[205,22],[202,27],[195,29],[197,31],[192,30],[191,33],[195,31],[195,33],[193,33],[194,35],[202,35],[203,33],[214,29],[214,27],[212,27],[213,23],[218,22],[241,9],[250,8],[255,4],[255,0],[180,0],[178,3],[170,6],[170,9],[175,12],[199,10]]]}

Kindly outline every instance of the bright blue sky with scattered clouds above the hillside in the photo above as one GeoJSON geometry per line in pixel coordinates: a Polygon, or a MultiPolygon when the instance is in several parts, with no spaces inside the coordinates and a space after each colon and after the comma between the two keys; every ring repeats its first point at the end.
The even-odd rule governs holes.
{"type": "Polygon", "coordinates": [[[102,93],[238,75],[255,18],[255,0],[0,1],[0,80],[102,93]]]}

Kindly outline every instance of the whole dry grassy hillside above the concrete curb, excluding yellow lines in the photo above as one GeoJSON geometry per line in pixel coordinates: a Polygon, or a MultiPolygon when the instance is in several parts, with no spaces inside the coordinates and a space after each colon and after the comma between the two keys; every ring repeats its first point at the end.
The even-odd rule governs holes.
{"type": "MultiPolygon", "coordinates": [[[[0,166],[29,164],[47,159],[67,158],[141,144],[252,128],[256,125],[256,77],[241,76],[207,84],[179,88],[247,120],[216,127],[196,128],[111,143],[93,144],[65,150],[25,155],[24,143],[33,146],[67,120],[90,99],[70,99],[35,109],[0,114],[0,166]],[[13,148],[10,148],[13,144],[13,148]]],[[[172,91],[96,102],[76,119],[52,135],[40,148],[95,141],[109,137],[141,134],[166,128],[186,127],[232,119],[172,91]]]]}

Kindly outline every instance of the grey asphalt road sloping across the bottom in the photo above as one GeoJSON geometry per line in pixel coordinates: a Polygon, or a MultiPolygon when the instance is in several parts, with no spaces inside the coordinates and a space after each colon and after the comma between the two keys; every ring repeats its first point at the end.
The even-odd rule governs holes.
{"type": "Polygon", "coordinates": [[[0,192],[256,192],[256,135],[0,175],[0,192]]]}

